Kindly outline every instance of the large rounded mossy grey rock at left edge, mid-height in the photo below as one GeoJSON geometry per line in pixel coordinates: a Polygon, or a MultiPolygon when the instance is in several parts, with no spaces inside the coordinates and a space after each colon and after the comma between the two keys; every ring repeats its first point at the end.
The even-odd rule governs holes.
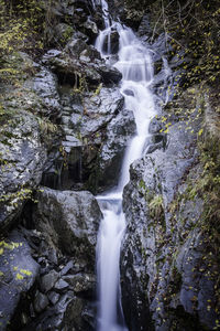
{"type": "Polygon", "coordinates": [[[0,129],[0,149],[3,172],[0,179],[0,227],[14,222],[32,189],[40,182],[46,161],[36,118],[26,111],[13,110],[10,121],[0,129]]]}

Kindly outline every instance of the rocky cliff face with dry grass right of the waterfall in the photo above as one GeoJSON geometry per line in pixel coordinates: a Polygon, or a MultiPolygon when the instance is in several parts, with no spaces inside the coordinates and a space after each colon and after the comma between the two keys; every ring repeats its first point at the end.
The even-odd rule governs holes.
{"type": "MultiPolygon", "coordinates": [[[[148,31],[142,21],[140,35],[145,35],[143,26],[148,31]]],[[[210,231],[210,212],[207,217],[212,203],[206,196],[216,189],[208,184],[212,170],[205,169],[219,153],[218,148],[216,157],[210,152],[218,139],[218,110],[210,107],[211,93],[204,95],[198,85],[178,93],[187,55],[179,56],[172,45],[165,46],[163,34],[152,46],[161,113],[150,125],[152,138],[144,157],[131,166],[131,180],[123,192],[128,222],[121,256],[125,320],[129,330],[217,330],[219,259],[215,237],[219,232],[210,231]],[[167,71],[170,67],[173,73],[167,71]]],[[[216,216],[215,222],[218,227],[216,216]]]]}

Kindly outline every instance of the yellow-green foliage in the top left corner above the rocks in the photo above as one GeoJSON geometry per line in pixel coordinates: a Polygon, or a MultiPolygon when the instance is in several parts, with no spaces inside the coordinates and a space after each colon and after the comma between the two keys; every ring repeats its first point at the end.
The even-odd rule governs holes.
{"type": "Polygon", "coordinates": [[[0,81],[14,84],[22,75],[9,62],[10,55],[43,54],[48,46],[46,31],[57,23],[53,9],[54,0],[0,0],[0,81]]]}

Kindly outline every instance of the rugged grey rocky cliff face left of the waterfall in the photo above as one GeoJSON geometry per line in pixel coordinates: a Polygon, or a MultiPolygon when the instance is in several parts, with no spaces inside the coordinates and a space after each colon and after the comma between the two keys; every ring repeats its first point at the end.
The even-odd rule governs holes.
{"type": "Polygon", "coordinates": [[[45,35],[52,49],[35,60],[11,54],[7,61],[18,78],[1,83],[2,330],[96,328],[102,215],[91,193],[73,189],[113,185],[116,178],[107,182],[106,173],[119,172],[135,132],[116,87],[121,74],[92,45],[103,25],[101,9],[56,1],[51,14],[45,35]],[[62,191],[40,189],[41,182],[62,191]]]}

